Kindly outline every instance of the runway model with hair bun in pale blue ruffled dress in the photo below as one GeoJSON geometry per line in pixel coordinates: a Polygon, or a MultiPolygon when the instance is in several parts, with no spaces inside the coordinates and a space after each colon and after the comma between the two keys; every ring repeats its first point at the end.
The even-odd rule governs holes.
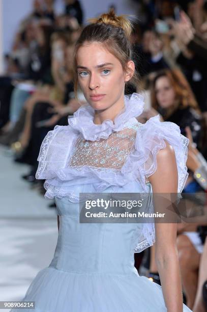
{"type": "Polygon", "coordinates": [[[91,19],[74,52],[74,89],[79,85],[87,103],[43,140],[36,177],[46,179],[45,197],[55,198],[58,241],[23,299],[35,301],[37,312],[191,311],[183,304],[176,223],[115,221],[123,207],[112,206],[108,220],[106,213],[90,221],[84,210],[97,193],[131,199],[140,192],[147,214],[152,194],[180,193],[188,176],[188,139],[179,127],[159,115],[139,123],[143,97],[124,94],[129,81],[137,82],[130,34],[130,21],[113,10],[91,19]],[[134,252],[154,243],[162,287],[134,267],[134,252]]]}

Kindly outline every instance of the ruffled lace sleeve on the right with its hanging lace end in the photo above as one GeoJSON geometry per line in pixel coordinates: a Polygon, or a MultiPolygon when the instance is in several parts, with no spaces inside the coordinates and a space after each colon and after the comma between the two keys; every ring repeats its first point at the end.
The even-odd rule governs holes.
{"type": "MultiPolygon", "coordinates": [[[[176,165],[178,168],[178,193],[181,193],[188,177],[186,161],[188,157],[189,139],[181,134],[180,127],[173,122],[160,121],[159,115],[150,118],[138,128],[135,139],[135,153],[130,160],[134,162],[133,172],[139,179],[143,189],[149,192],[149,203],[145,213],[153,213],[152,186],[145,183],[145,177],[151,176],[157,170],[157,154],[160,149],[166,147],[168,142],[174,149],[176,165]]],[[[151,247],[156,241],[155,223],[138,224],[135,231],[134,252],[151,247]]]]}

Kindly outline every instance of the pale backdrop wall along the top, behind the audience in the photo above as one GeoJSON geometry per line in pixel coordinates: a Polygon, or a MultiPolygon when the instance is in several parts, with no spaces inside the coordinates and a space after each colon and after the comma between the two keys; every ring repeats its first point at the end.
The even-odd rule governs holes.
{"type": "MultiPolygon", "coordinates": [[[[4,53],[8,53],[21,19],[32,11],[33,0],[0,0],[0,6],[1,1],[3,15],[1,27],[3,33],[2,45],[4,53]]],[[[117,14],[135,14],[136,12],[136,6],[132,0],[80,0],[80,2],[83,8],[84,20],[108,11],[109,6],[112,4],[115,5],[117,14]]],[[[62,13],[63,8],[63,0],[55,0],[55,11],[62,13]]]]}

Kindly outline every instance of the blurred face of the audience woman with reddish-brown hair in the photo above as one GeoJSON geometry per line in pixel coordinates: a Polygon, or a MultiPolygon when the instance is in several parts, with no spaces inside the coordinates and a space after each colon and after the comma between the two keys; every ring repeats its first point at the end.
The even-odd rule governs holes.
{"type": "Polygon", "coordinates": [[[174,105],[175,92],[167,76],[162,76],[157,79],[155,93],[160,107],[168,108],[174,105]]]}

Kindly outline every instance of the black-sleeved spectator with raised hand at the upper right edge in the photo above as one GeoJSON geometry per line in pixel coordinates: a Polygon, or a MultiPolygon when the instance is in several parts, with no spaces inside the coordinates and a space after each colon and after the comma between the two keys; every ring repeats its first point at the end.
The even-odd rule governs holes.
{"type": "Polygon", "coordinates": [[[194,29],[190,18],[182,11],[181,20],[172,23],[172,30],[181,49],[176,58],[184,72],[202,112],[207,110],[207,43],[194,29]]]}

